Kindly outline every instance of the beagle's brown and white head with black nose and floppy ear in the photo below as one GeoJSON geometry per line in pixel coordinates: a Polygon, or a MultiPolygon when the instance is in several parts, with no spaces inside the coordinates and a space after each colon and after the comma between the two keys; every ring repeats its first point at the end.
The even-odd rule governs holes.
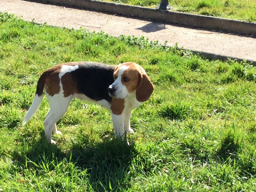
{"type": "Polygon", "coordinates": [[[145,70],[136,63],[125,62],[117,65],[114,79],[114,83],[108,87],[108,93],[117,99],[124,99],[130,93],[135,93],[136,99],[144,102],[154,91],[145,70]]]}

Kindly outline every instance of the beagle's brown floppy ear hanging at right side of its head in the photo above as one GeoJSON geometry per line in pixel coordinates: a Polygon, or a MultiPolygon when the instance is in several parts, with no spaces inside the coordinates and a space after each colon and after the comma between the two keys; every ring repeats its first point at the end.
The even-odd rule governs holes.
{"type": "Polygon", "coordinates": [[[139,86],[136,89],[136,99],[139,102],[144,102],[149,99],[154,91],[154,86],[151,83],[146,73],[139,73],[139,86]]]}

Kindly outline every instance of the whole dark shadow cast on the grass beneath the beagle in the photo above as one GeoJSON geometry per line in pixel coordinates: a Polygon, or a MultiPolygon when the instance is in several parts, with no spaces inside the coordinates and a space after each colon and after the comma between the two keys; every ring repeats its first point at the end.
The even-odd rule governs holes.
{"type": "Polygon", "coordinates": [[[41,138],[19,158],[19,164],[36,169],[42,164],[53,164],[54,169],[61,161],[71,162],[77,169],[87,171],[89,182],[95,190],[129,187],[129,171],[132,159],[137,155],[133,141],[130,141],[130,145],[116,138],[96,145],[88,145],[84,141],[73,143],[67,151],[63,152],[58,145],[41,138]]]}

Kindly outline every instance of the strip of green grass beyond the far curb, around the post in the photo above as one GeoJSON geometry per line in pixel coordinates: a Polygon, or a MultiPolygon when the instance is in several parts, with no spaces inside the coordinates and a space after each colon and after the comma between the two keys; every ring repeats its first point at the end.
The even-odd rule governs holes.
{"type": "MultiPolygon", "coordinates": [[[[160,0],[103,0],[155,8],[160,0]]],[[[172,11],[256,22],[256,0],[169,0],[172,11]]]]}

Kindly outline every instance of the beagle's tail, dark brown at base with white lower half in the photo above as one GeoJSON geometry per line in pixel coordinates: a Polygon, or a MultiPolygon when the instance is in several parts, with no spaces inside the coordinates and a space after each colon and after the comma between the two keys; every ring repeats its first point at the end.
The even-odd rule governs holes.
{"type": "Polygon", "coordinates": [[[37,109],[39,108],[42,100],[43,100],[43,92],[44,92],[44,83],[45,83],[45,79],[47,77],[47,73],[43,73],[42,76],[40,76],[37,85],[36,85],[36,95],[32,101],[32,104],[30,106],[30,108],[28,109],[27,114],[24,117],[23,120],[23,126],[29,121],[29,119],[31,117],[33,117],[37,111],[37,109]]]}

